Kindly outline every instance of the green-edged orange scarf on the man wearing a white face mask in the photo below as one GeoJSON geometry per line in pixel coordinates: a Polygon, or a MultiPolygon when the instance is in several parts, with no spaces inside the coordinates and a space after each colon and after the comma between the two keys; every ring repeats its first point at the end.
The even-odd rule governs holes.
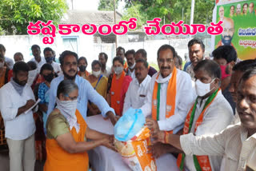
{"type": "MultiPolygon", "coordinates": [[[[214,101],[215,97],[217,96],[217,94],[220,90],[221,89],[218,89],[218,91],[216,91],[212,94],[212,95],[214,95],[213,99],[202,110],[202,113],[199,115],[198,120],[195,122],[194,133],[197,131],[198,126],[202,124],[204,113],[206,112],[206,109],[208,109],[210,104],[214,101]]],[[[190,132],[190,118],[191,118],[191,114],[193,113],[193,110],[195,110],[194,108],[196,107],[196,103],[197,103],[197,100],[196,100],[195,104],[191,107],[190,112],[186,115],[186,120],[185,120],[185,124],[184,124],[184,128],[183,128],[183,135],[190,132]]],[[[195,165],[196,168],[200,167],[201,168],[200,170],[202,170],[202,171],[211,171],[212,170],[208,156],[195,156],[195,157],[197,158],[197,161],[194,161],[194,163],[196,163],[196,165],[195,165]]],[[[184,159],[185,159],[185,155],[184,154],[182,155],[182,153],[179,153],[178,159],[177,159],[177,165],[180,170],[184,170],[184,159]]]]}

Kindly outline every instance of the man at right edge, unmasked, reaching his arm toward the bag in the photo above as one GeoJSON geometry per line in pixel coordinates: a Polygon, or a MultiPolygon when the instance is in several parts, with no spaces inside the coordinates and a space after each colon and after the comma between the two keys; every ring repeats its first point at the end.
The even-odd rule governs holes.
{"type": "MultiPolygon", "coordinates": [[[[160,131],[152,137],[156,141],[174,145],[186,155],[223,156],[220,171],[246,170],[248,161],[256,161],[256,156],[253,156],[253,153],[256,153],[256,68],[247,70],[242,75],[237,97],[241,122],[228,126],[221,133],[204,136],[194,136],[193,133],[165,136],[165,133],[160,131]]],[[[256,167],[250,170],[255,169],[256,167]]]]}

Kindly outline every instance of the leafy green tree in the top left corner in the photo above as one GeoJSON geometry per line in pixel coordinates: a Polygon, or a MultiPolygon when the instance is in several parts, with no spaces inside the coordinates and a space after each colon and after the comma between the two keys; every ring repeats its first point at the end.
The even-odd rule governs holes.
{"type": "Polygon", "coordinates": [[[1,0],[0,30],[5,34],[27,34],[29,22],[53,20],[57,25],[67,6],[65,0],[1,0]]]}

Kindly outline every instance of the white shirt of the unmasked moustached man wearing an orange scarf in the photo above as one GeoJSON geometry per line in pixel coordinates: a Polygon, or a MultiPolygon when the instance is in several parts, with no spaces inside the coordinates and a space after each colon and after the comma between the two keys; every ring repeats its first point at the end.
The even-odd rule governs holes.
{"type": "Polygon", "coordinates": [[[177,70],[175,111],[174,115],[169,118],[166,118],[166,92],[172,74],[166,78],[162,78],[162,75],[160,74],[158,80],[156,80],[157,76],[158,73],[154,74],[151,78],[149,91],[146,95],[146,104],[141,108],[142,113],[144,113],[145,117],[152,114],[154,82],[162,83],[160,89],[159,129],[166,131],[174,130],[174,133],[177,133],[178,130],[182,129],[186,119],[187,110],[194,100],[194,90],[192,89],[190,75],[182,70],[177,70]]]}

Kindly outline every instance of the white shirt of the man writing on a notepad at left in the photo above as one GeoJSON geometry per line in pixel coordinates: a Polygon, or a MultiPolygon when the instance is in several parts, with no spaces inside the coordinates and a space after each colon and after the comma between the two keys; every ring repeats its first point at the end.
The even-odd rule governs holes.
{"type": "Polygon", "coordinates": [[[11,82],[0,89],[0,110],[5,122],[6,137],[12,140],[24,140],[35,132],[33,112],[22,113],[16,117],[18,108],[33,99],[34,93],[29,85],[25,85],[22,95],[14,89],[11,82]]]}

